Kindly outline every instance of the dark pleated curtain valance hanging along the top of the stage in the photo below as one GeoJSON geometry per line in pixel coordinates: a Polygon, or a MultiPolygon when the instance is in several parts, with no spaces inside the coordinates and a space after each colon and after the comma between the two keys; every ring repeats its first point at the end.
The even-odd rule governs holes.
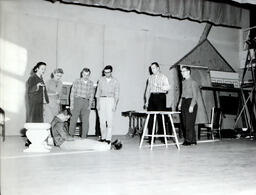
{"type": "MultiPolygon", "coordinates": [[[[50,0],[55,2],[57,0],[50,0]]],[[[210,0],[59,0],[72,3],[136,11],[139,13],[241,27],[242,9],[237,3],[210,0]]]]}

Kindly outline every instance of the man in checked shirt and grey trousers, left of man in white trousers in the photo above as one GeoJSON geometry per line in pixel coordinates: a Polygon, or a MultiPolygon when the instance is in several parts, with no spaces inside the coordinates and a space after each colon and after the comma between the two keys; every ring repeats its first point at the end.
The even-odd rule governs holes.
{"type": "Polygon", "coordinates": [[[91,71],[84,68],[80,73],[80,79],[77,79],[70,93],[70,109],[72,117],[70,119],[69,133],[75,135],[76,123],[78,117],[82,122],[81,137],[86,138],[89,131],[89,115],[94,97],[93,82],[89,79],[91,71]]]}

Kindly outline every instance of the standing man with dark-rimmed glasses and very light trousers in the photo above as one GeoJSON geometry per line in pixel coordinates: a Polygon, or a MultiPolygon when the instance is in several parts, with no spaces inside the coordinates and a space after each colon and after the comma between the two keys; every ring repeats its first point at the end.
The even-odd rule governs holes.
{"type": "Polygon", "coordinates": [[[96,98],[100,118],[101,142],[111,143],[113,114],[119,100],[119,82],[112,77],[113,68],[107,65],[103,69],[104,76],[98,82],[96,98]]]}

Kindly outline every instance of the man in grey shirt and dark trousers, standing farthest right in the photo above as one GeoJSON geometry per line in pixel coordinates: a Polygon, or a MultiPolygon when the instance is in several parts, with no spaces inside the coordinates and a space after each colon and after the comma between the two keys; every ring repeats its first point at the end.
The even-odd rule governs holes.
{"type": "Polygon", "coordinates": [[[199,95],[199,85],[191,78],[191,70],[188,66],[181,67],[182,94],[179,101],[181,110],[181,122],[184,137],[184,146],[196,144],[195,121],[197,115],[197,99],[199,95]]]}

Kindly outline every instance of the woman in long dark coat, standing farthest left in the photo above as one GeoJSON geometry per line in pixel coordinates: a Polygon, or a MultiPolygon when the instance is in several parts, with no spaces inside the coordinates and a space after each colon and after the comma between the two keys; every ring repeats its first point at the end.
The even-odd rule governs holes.
{"type": "Polygon", "coordinates": [[[43,104],[49,103],[47,91],[43,81],[43,74],[46,70],[46,63],[38,62],[27,81],[28,92],[28,118],[27,122],[42,123],[43,104]]]}

